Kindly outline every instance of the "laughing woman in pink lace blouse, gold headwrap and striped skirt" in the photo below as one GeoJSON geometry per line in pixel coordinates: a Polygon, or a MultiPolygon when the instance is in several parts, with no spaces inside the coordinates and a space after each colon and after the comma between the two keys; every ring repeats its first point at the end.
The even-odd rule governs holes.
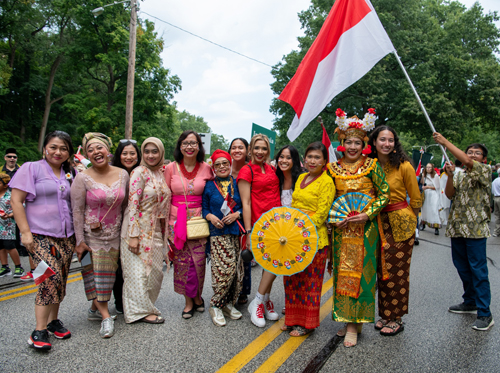
{"type": "Polygon", "coordinates": [[[92,260],[82,267],[87,300],[97,308],[91,307],[87,318],[102,319],[102,338],[112,337],[115,330],[108,302],[118,268],[123,202],[127,201],[129,181],[127,171],[109,164],[111,146],[106,135],[87,133],[82,150],[92,167],[79,173],[71,186],[76,252],[80,260],[85,254],[92,260]]]}

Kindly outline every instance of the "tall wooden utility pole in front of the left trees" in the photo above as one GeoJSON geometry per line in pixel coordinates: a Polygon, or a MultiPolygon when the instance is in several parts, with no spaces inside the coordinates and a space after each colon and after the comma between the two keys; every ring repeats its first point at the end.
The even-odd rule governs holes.
{"type": "Polygon", "coordinates": [[[134,117],[134,80],[135,80],[135,46],[137,36],[136,0],[130,1],[130,40],[128,52],[127,103],[125,108],[125,138],[132,138],[132,123],[134,117]]]}

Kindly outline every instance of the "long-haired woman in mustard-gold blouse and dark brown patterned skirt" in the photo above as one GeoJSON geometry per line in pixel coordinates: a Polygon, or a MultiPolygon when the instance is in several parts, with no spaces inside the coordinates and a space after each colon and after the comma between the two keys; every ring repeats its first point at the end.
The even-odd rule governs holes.
{"type": "Polygon", "coordinates": [[[387,249],[389,278],[378,270],[378,313],[375,329],[386,336],[404,330],[401,318],[408,313],[410,263],[415,242],[417,215],[422,206],[415,169],[391,127],[379,126],[370,135],[371,158],[378,159],[391,190],[391,201],[381,212],[387,249]],[[406,195],[410,203],[406,201],[406,195]]]}

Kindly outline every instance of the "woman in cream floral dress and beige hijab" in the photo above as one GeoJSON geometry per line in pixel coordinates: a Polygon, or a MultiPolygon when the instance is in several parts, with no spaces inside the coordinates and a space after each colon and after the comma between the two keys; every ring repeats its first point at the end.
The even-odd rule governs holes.
{"type": "Polygon", "coordinates": [[[155,307],[163,280],[163,247],[167,246],[165,219],[170,212],[170,189],[163,178],[165,149],[149,137],[141,146],[141,165],[130,175],[129,216],[122,229],[123,310],[125,322],[161,324],[155,307]]]}

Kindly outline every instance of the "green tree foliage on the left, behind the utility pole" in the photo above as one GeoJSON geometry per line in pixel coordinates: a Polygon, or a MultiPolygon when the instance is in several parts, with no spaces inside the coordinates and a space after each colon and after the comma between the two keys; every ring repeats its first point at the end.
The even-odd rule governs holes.
{"type": "MultiPolygon", "coordinates": [[[[117,4],[94,17],[92,9],[109,3],[0,2],[0,154],[16,146],[20,162],[38,159],[39,137],[56,129],[74,144],[89,131],[115,143],[124,137],[130,9],[117,4]]],[[[163,66],[163,47],[154,24],[139,19],[133,137],[159,137],[169,156],[190,114],[179,113],[173,102],[181,80],[163,66]]],[[[210,132],[203,118],[195,122],[210,132]]]]}

